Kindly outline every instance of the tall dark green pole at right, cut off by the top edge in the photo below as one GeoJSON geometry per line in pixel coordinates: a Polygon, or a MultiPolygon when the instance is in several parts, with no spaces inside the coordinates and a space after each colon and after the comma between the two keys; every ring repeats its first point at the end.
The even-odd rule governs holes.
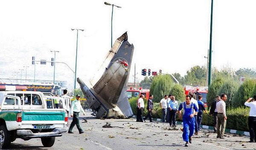
{"type": "Polygon", "coordinates": [[[213,0],[211,5],[211,25],[210,25],[210,47],[209,47],[209,70],[208,70],[208,87],[212,81],[212,13],[213,13],[213,0]]]}

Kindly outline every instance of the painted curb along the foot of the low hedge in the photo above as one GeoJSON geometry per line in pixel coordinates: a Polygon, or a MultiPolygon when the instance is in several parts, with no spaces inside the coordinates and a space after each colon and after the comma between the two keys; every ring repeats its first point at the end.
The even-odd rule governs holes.
{"type": "MultiPolygon", "coordinates": [[[[136,115],[134,115],[133,118],[136,118],[136,115]]],[[[160,119],[160,118],[152,118],[152,120],[162,122],[162,119],[160,119]]],[[[182,125],[183,122],[176,121],[176,124],[181,124],[182,125]]],[[[209,130],[214,129],[212,126],[206,126],[206,125],[201,125],[201,128],[209,129],[209,130]]],[[[232,133],[232,134],[239,134],[239,135],[243,135],[243,136],[250,136],[249,132],[233,130],[233,129],[226,129],[225,133],[232,133]]]]}

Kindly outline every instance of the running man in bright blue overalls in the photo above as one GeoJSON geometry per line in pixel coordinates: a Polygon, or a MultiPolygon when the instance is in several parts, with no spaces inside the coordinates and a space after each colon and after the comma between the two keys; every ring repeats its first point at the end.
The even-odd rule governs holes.
{"type": "Polygon", "coordinates": [[[192,143],[191,136],[194,134],[195,130],[195,119],[194,115],[198,113],[198,108],[196,104],[191,102],[191,96],[186,96],[186,102],[180,104],[179,107],[179,118],[181,119],[181,110],[183,109],[183,140],[186,142],[185,147],[192,143]],[[195,110],[195,112],[194,112],[195,110]]]}

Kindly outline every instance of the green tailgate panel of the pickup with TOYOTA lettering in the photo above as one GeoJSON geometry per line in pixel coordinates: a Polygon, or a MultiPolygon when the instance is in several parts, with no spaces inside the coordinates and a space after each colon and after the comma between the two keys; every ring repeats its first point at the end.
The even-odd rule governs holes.
{"type": "Polygon", "coordinates": [[[22,121],[62,121],[65,112],[22,112],[22,121]]]}

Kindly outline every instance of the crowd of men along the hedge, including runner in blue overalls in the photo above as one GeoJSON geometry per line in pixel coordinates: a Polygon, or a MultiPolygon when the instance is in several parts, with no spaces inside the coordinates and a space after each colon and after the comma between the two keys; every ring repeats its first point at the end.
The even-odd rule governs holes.
{"type": "MultiPolygon", "coordinates": [[[[149,118],[150,122],[152,120],[152,110],[154,109],[153,95],[149,95],[147,101],[148,114],[143,118],[144,110],[144,95],[140,95],[137,100],[137,122],[145,122],[149,118]]],[[[195,133],[198,135],[198,131],[201,127],[202,115],[207,113],[204,102],[202,101],[203,96],[198,95],[198,100],[195,99],[196,95],[189,92],[186,95],[185,102],[180,103],[175,100],[175,95],[164,95],[163,99],[160,101],[160,106],[162,108],[162,122],[167,122],[171,127],[176,127],[176,114],[179,114],[179,118],[183,120],[183,140],[186,141],[185,146],[192,143],[191,136],[195,133]],[[183,115],[182,115],[183,113],[183,115]]],[[[226,128],[226,103],[227,95],[222,94],[217,95],[216,100],[212,102],[210,106],[209,114],[213,116],[214,119],[214,133],[217,133],[217,138],[224,138],[224,131],[226,128]]],[[[250,131],[250,141],[256,142],[256,95],[253,98],[249,98],[244,105],[250,107],[250,114],[248,118],[248,125],[250,131]]]]}

